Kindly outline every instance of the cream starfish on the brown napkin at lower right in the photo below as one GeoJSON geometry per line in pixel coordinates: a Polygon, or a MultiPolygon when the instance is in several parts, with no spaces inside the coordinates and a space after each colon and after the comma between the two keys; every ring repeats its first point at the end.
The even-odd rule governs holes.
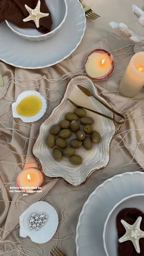
{"type": "Polygon", "coordinates": [[[121,220],[122,225],[126,229],[126,233],[118,240],[119,243],[128,240],[132,241],[137,253],[140,253],[139,239],[144,238],[144,232],[140,229],[141,221],[142,217],[138,217],[136,222],[133,225],[130,225],[126,221],[121,220]]]}

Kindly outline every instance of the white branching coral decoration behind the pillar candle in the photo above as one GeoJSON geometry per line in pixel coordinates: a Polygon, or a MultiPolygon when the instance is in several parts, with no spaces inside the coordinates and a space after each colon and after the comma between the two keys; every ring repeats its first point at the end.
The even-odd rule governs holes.
{"type": "MultiPolygon", "coordinates": [[[[132,12],[138,17],[138,23],[144,26],[144,11],[133,4],[132,12]]],[[[114,30],[115,34],[124,38],[125,40],[136,43],[134,46],[135,53],[144,51],[144,36],[134,32],[134,30],[129,28],[124,23],[116,23],[112,21],[109,25],[114,30]]]]}

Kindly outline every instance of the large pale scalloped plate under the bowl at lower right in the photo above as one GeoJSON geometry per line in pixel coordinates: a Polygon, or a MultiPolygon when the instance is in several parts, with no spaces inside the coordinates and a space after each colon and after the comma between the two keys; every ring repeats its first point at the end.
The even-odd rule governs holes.
{"type": "Polygon", "coordinates": [[[106,218],[120,200],[144,193],[144,172],[126,172],[102,183],[83,206],[76,228],[78,256],[106,256],[103,230],[106,218]]]}

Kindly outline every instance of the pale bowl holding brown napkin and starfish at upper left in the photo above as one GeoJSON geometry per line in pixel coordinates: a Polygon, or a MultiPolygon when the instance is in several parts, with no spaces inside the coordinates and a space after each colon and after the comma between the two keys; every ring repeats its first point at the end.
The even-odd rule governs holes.
{"type": "Polygon", "coordinates": [[[64,24],[68,12],[66,0],[45,0],[52,14],[52,27],[49,33],[43,34],[34,28],[19,28],[12,22],[6,20],[7,26],[18,36],[30,41],[41,41],[51,38],[64,24]]]}

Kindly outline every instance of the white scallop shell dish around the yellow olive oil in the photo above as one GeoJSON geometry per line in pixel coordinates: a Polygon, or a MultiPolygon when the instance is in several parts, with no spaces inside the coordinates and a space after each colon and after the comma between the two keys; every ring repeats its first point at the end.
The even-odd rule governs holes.
{"type": "Polygon", "coordinates": [[[46,108],[47,108],[47,105],[46,105],[45,98],[39,92],[28,90],[28,91],[22,92],[20,95],[18,95],[16,102],[12,103],[12,115],[14,118],[20,118],[23,122],[26,122],[26,123],[35,122],[35,121],[39,120],[44,115],[44,113],[46,112],[46,108]],[[24,98],[26,98],[27,96],[30,96],[30,95],[37,95],[42,100],[42,108],[41,108],[40,112],[38,112],[38,114],[36,114],[35,116],[30,116],[30,117],[21,116],[17,113],[16,106],[18,105],[18,103],[21,100],[23,100],[24,98]]]}

